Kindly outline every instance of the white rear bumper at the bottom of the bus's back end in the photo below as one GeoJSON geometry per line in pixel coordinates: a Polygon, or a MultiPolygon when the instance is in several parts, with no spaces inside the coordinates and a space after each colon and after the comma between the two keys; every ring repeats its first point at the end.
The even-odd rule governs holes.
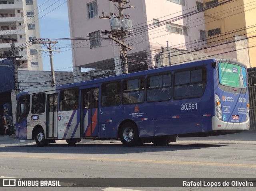
{"type": "Polygon", "coordinates": [[[219,120],[216,116],[212,117],[212,130],[249,130],[250,118],[245,122],[231,123],[219,120]]]}

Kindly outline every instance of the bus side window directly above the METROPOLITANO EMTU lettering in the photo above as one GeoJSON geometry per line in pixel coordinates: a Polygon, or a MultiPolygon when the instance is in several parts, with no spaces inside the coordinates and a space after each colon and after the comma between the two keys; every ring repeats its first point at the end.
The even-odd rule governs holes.
{"type": "Polygon", "coordinates": [[[60,111],[78,109],[78,89],[69,89],[60,91],[60,111]]]}

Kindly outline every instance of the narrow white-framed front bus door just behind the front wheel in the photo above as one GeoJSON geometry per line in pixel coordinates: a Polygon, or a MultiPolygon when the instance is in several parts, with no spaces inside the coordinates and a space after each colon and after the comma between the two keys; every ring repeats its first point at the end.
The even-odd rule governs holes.
{"type": "Polygon", "coordinates": [[[57,137],[58,94],[47,95],[46,138],[57,137]]]}

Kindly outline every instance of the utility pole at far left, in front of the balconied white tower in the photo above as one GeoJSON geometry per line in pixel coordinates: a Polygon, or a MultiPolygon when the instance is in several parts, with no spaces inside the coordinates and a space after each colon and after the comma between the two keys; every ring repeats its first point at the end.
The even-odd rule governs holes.
{"type": "Polygon", "coordinates": [[[0,39],[12,41],[12,55],[0,55],[0,59],[2,59],[2,58],[9,58],[9,59],[11,58],[12,59],[13,68],[14,68],[14,87],[15,87],[15,94],[17,96],[20,93],[20,87],[19,87],[18,67],[17,67],[17,63],[16,63],[16,58],[22,58],[22,56],[16,56],[15,41],[17,39],[4,38],[4,37],[0,37],[0,39]]]}

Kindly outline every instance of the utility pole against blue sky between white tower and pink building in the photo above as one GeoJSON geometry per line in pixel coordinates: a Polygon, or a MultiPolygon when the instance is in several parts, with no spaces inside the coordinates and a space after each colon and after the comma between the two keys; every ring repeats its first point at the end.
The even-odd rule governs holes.
{"type": "Polygon", "coordinates": [[[43,44],[49,51],[49,55],[50,55],[50,65],[51,65],[51,86],[54,87],[55,86],[55,75],[54,75],[54,70],[53,70],[53,63],[52,63],[52,47],[58,43],[58,41],[50,41],[50,39],[48,39],[48,41],[46,39],[32,39],[32,43],[33,44],[43,44]],[[53,46],[51,46],[51,44],[54,44],[53,46]],[[48,45],[46,45],[48,44],[48,45]]]}

